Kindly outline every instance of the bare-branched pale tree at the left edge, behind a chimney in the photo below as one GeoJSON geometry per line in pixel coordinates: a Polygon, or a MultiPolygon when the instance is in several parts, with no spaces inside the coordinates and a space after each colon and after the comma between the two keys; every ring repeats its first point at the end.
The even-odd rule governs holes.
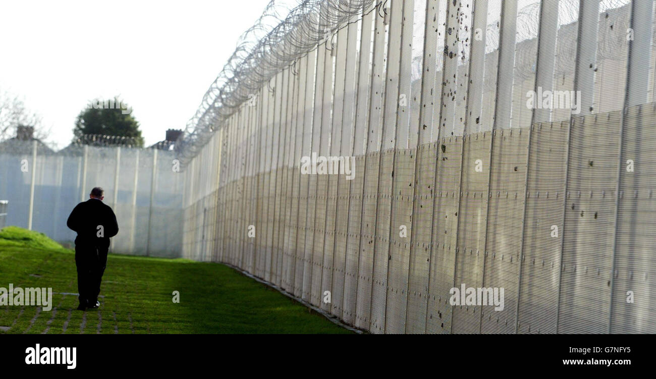
{"type": "Polygon", "coordinates": [[[23,100],[7,90],[0,90],[0,141],[16,136],[16,128],[20,125],[34,127],[35,138],[46,142],[49,130],[41,123],[41,116],[28,110],[23,100]]]}

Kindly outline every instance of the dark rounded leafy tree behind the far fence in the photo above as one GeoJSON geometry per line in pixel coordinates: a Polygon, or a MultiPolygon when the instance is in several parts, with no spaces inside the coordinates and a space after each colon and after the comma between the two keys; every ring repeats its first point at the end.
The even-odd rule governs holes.
{"type": "Polygon", "coordinates": [[[131,113],[132,108],[118,97],[92,100],[87,108],[77,115],[73,142],[94,144],[98,142],[97,138],[87,138],[94,135],[98,136],[104,145],[125,144],[125,139],[115,138],[125,137],[133,146],[143,147],[144,138],[141,136],[139,123],[131,113]]]}

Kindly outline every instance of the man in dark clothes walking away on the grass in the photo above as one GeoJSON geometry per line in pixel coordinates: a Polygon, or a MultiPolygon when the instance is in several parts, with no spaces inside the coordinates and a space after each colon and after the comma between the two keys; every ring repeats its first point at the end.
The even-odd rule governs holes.
{"type": "Polygon", "coordinates": [[[77,232],[75,238],[75,266],[77,266],[77,292],[79,306],[86,308],[100,307],[98,294],[102,274],[107,265],[107,252],[110,249],[110,237],[119,232],[116,216],[109,205],[102,202],[104,190],[95,187],[89,194],[89,200],[75,206],[68,216],[68,228],[77,232]]]}

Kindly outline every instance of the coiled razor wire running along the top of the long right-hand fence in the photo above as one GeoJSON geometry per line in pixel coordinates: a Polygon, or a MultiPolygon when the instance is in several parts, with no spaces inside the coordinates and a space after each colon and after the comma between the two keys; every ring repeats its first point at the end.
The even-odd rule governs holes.
{"type": "MultiPolygon", "coordinates": [[[[303,0],[292,8],[289,2],[270,1],[255,25],[241,35],[237,49],[187,123],[184,136],[176,144],[180,160],[194,157],[251,94],[298,58],[332,39],[341,26],[363,14],[373,2],[303,0]]],[[[384,3],[386,0],[376,7],[384,3]]]]}

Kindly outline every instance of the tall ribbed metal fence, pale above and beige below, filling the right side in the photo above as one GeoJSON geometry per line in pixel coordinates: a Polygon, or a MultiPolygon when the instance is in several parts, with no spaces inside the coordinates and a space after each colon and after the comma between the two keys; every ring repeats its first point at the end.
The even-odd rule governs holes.
{"type": "Polygon", "coordinates": [[[656,332],[654,2],[357,3],[190,161],[184,256],[375,333],[656,332]]]}

